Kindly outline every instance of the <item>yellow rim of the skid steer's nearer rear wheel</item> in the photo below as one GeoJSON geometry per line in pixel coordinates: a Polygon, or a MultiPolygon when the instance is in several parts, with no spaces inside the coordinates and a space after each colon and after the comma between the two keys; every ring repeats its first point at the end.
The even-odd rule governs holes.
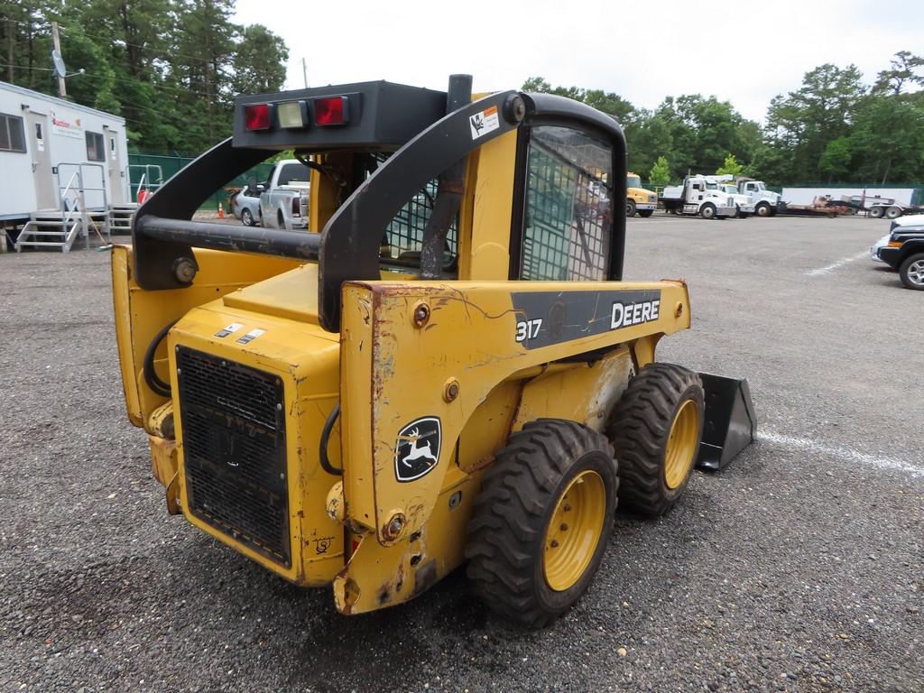
{"type": "Polygon", "coordinates": [[[582,471],[558,499],[545,530],[542,570],[555,591],[572,587],[597,551],[606,517],[606,486],[592,469],[582,471]]]}

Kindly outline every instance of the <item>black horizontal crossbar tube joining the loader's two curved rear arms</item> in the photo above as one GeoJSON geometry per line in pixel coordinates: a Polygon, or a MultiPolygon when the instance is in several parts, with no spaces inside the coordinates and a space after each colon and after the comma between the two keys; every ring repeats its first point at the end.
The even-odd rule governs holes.
{"type": "Polygon", "coordinates": [[[150,214],[136,221],[135,232],[152,240],[182,243],[193,248],[253,252],[299,260],[317,260],[321,250],[320,234],[164,219],[150,214]]]}

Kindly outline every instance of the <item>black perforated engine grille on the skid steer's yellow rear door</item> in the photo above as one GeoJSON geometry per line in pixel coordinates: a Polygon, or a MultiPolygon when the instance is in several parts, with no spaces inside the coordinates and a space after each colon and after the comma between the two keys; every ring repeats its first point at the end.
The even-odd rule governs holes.
{"type": "Polygon", "coordinates": [[[186,346],[176,374],[190,512],[290,566],[282,381],[186,346]]]}

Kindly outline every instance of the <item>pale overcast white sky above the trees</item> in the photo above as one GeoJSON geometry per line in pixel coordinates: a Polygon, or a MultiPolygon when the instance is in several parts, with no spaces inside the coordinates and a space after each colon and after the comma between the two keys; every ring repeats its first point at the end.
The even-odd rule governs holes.
{"type": "Polygon", "coordinates": [[[813,67],[853,63],[871,82],[895,52],[924,54],[924,12],[908,0],[237,0],[235,21],[286,40],[286,89],[304,86],[304,58],[312,87],[387,79],[445,90],[464,72],[475,91],[497,91],[541,76],[643,108],[714,94],[758,121],[813,67]]]}

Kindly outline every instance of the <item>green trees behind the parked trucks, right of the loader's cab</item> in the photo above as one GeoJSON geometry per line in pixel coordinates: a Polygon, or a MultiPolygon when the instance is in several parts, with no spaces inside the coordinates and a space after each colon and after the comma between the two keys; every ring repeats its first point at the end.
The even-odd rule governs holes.
{"type": "Polygon", "coordinates": [[[774,97],[764,125],[715,96],[668,96],[654,110],[618,94],[553,87],[613,116],[626,132],[629,168],[652,185],[693,173],[753,176],[769,185],[924,181],[924,58],[899,51],[867,84],[854,65],[808,71],[774,97]]]}

